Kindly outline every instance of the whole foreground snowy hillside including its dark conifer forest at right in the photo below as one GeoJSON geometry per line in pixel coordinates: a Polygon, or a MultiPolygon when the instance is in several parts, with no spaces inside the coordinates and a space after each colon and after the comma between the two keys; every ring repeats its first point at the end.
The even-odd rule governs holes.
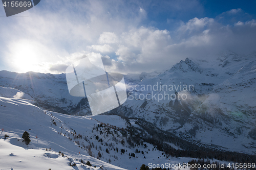
{"type": "Polygon", "coordinates": [[[202,155],[211,163],[219,161],[226,165],[231,163],[230,155],[235,158],[232,161],[256,159],[189,144],[173,134],[164,134],[142,119],[67,115],[42,110],[30,102],[0,97],[1,169],[112,170],[167,163],[169,169],[175,166],[172,169],[178,170],[179,164],[202,155]],[[22,138],[25,131],[30,134],[28,145],[22,138]],[[162,138],[166,141],[160,141],[162,138]]]}

